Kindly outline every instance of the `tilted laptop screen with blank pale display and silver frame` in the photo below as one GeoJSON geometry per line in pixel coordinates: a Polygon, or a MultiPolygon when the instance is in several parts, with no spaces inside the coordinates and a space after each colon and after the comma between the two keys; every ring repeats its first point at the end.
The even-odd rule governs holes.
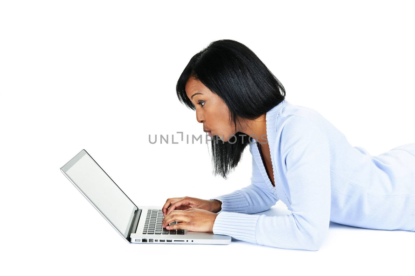
{"type": "Polygon", "coordinates": [[[62,167],[66,175],[125,238],[137,206],[93,158],[82,150],[62,167]]]}

